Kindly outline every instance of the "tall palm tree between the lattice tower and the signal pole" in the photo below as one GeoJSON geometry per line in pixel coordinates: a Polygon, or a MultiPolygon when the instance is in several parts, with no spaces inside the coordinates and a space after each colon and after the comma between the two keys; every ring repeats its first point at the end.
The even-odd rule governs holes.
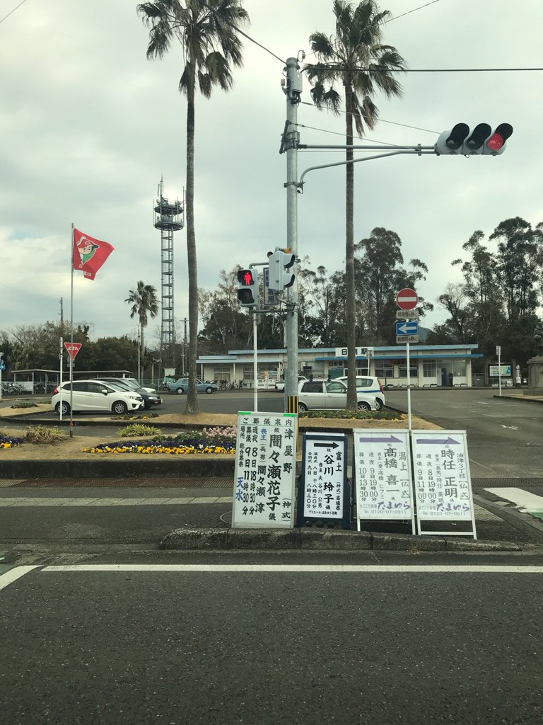
{"type": "Polygon", "coordinates": [[[187,188],[185,195],[188,261],[188,378],[186,412],[198,413],[196,397],[196,343],[198,339],[198,276],[194,231],[195,89],[204,98],[214,86],[229,91],[232,66],[241,67],[242,43],[237,28],[248,21],[240,0],[155,0],[138,5],[143,22],[151,27],[147,57],[161,58],[173,41],[181,43],[185,67],[179,90],[187,96],[187,188]]]}

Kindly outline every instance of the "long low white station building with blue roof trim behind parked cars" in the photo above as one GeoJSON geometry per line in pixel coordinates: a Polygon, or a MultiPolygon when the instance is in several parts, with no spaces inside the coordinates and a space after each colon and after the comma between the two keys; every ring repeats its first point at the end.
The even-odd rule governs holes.
{"type": "MultiPolygon", "coordinates": [[[[483,357],[475,344],[410,345],[411,385],[416,387],[469,387],[471,361],[483,357]]],[[[201,380],[253,388],[253,350],[229,350],[226,355],[202,355],[197,360],[201,380]]],[[[258,350],[258,388],[273,388],[284,379],[287,350],[258,350]]],[[[298,373],[314,378],[335,378],[347,374],[347,348],[311,347],[298,350],[298,373]]],[[[384,386],[407,386],[408,367],[405,345],[357,347],[356,374],[376,376],[384,386]]]]}

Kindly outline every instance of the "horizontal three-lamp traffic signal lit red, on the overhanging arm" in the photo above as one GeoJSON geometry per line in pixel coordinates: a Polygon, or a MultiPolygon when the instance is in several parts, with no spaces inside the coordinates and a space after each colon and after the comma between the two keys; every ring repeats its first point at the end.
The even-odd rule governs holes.
{"type": "Polygon", "coordinates": [[[510,123],[500,123],[494,131],[488,123],[478,123],[471,133],[467,123],[457,123],[452,130],[443,131],[434,149],[438,155],[497,156],[505,151],[505,141],[512,134],[513,126],[510,123]]]}

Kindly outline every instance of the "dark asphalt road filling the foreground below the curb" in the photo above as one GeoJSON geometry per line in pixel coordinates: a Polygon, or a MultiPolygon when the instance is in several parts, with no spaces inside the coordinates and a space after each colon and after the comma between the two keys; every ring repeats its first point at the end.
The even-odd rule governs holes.
{"type": "Polygon", "coordinates": [[[540,556],[139,560],[0,590],[2,725],[541,722],[540,556]]]}

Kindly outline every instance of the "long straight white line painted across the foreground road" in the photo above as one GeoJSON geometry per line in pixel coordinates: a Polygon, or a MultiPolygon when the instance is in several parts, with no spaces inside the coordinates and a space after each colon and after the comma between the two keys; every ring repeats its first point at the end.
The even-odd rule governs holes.
{"type": "Polygon", "coordinates": [[[353,572],[353,573],[500,573],[543,574],[543,566],[382,566],[358,564],[72,564],[46,566],[41,571],[271,571],[271,572],[353,572]]]}

